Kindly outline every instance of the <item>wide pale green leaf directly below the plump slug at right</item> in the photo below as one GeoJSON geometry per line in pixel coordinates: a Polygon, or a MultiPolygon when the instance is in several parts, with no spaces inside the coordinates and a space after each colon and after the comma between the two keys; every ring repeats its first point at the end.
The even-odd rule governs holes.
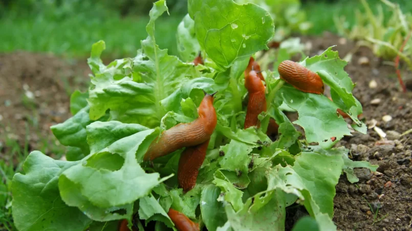
{"type": "Polygon", "coordinates": [[[331,148],[344,135],[351,135],[346,122],[336,114],[336,104],[327,97],[303,93],[286,85],[280,88],[277,97],[298,111],[299,119],[294,124],[305,129],[308,143],[317,142],[322,148],[331,148]],[[335,142],[332,137],[336,137],[335,142]]]}

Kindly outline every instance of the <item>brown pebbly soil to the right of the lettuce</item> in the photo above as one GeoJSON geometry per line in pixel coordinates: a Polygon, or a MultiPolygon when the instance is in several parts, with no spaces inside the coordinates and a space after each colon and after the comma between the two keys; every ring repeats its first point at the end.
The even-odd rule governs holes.
{"type": "MultiPolygon", "coordinates": [[[[320,38],[302,39],[309,40],[312,42],[310,56],[336,44],[334,50],[343,58],[355,47],[350,41],[339,44],[339,37],[329,33],[320,38]]],[[[412,128],[412,94],[410,90],[407,94],[401,93],[395,68],[385,65],[367,48],[353,54],[345,71],[356,83],[353,94],[363,106],[365,122],[376,120],[376,126],[386,132],[387,137],[381,139],[373,129],[368,129],[366,135],[355,133],[337,144],[349,148],[354,160],[368,160],[380,167],[376,173],[356,170],[360,181],[355,184],[346,176],[340,177],[333,221],[340,230],[412,230],[412,133],[399,137],[412,128]],[[361,57],[367,57],[369,63],[359,64],[361,57]],[[368,86],[372,80],[377,82],[376,88],[368,86]],[[373,105],[373,99],[381,102],[373,105]],[[385,115],[393,119],[384,122],[385,115]],[[380,207],[375,223],[368,203],[375,211],[380,207]]],[[[403,78],[410,78],[410,73],[404,72],[403,78]]]]}

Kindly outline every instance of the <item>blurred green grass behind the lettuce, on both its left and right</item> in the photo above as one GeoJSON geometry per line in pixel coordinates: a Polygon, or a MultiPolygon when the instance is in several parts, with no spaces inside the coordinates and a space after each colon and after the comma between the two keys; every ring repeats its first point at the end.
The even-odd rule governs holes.
{"type": "MultiPolygon", "coordinates": [[[[379,0],[368,1],[373,10],[379,0]]],[[[411,0],[393,1],[401,4],[403,12],[412,12],[411,0]]],[[[310,2],[302,9],[307,19],[313,23],[309,31],[311,35],[320,35],[323,31],[336,32],[333,24],[334,15],[345,15],[350,25],[355,23],[354,9],[361,9],[358,0],[342,0],[334,4],[326,2],[310,2]]],[[[387,8],[384,8],[387,10],[387,8]]],[[[385,11],[387,14],[388,12],[385,11]]],[[[91,45],[102,39],[106,42],[103,57],[121,58],[134,56],[140,47],[140,40],[146,37],[145,26],[148,17],[129,15],[120,17],[116,14],[94,16],[76,12],[69,17],[53,20],[52,17],[29,14],[5,14],[0,18],[0,53],[16,50],[32,52],[52,52],[61,56],[85,58],[90,54],[91,45]]],[[[184,12],[170,12],[156,22],[156,40],[162,49],[176,55],[176,28],[184,16],[184,12]]]]}

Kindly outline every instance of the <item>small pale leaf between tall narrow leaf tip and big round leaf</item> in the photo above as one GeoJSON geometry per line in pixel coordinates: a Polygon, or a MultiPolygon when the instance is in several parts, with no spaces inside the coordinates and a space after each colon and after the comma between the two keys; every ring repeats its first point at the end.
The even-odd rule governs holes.
{"type": "Polygon", "coordinates": [[[185,62],[192,62],[200,52],[200,45],[194,33],[194,21],[186,14],[178,26],[176,32],[178,52],[185,62]]]}

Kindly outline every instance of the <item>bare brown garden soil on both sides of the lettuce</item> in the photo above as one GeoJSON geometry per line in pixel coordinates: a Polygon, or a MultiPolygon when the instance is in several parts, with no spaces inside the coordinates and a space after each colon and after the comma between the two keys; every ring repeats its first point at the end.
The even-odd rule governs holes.
{"type": "MultiPolygon", "coordinates": [[[[310,56],[337,45],[334,50],[343,58],[355,47],[353,41],[332,34],[302,37],[302,41],[311,42],[310,56]]],[[[373,125],[375,120],[375,126],[387,136],[381,138],[372,128],[365,135],[354,133],[337,144],[350,149],[354,160],[368,160],[379,168],[372,173],[357,169],[360,180],[355,184],[341,176],[333,221],[339,230],[412,230],[412,133],[401,136],[412,128],[412,93],[410,89],[407,94],[401,93],[394,66],[376,58],[367,48],[354,52],[345,70],[356,83],[353,94],[363,105],[364,121],[373,125]],[[368,61],[360,62],[364,57],[368,61]],[[369,86],[373,80],[375,88],[369,86]],[[383,116],[392,120],[384,122],[383,116]]],[[[0,55],[0,142],[4,146],[0,155],[10,151],[11,140],[22,147],[28,143],[28,151],[44,150],[53,155],[50,147],[58,147],[58,142],[50,126],[71,116],[69,93],[85,90],[89,73],[84,59],[67,62],[26,52],[0,55]],[[46,145],[50,143],[55,144],[46,145]]],[[[404,79],[411,76],[402,74],[404,79]]],[[[288,211],[287,219],[293,224],[305,214],[294,208],[288,211]]]]}

